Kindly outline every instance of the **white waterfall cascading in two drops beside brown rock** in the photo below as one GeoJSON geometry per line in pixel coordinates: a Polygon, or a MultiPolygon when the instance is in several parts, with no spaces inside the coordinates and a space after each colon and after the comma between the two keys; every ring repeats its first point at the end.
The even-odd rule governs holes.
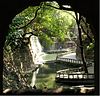
{"type": "Polygon", "coordinates": [[[33,76],[32,76],[32,80],[31,80],[31,86],[33,87],[35,85],[35,81],[36,81],[36,75],[39,72],[39,66],[43,64],[43,59],[42,59],[42,46],[39,42],[38,37],[32,35],[30,37],[30,43],[29,43],[29,49],[32,55],[32,59],[33,59],[33,69],[35,71],[33,71],[33,76]]]}

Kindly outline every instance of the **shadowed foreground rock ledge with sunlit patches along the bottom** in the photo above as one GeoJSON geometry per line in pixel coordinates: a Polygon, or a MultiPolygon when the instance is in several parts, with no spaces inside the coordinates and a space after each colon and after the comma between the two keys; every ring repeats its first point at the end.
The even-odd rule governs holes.
{"type": "Polygon", "coordinates": [[[64,89],[62,86],[57,89],[21,89],[21,90],[11,90],[6,89],[3,94],[6,95],[64,95],[64,94],[95,94],[94,88],[75,88],[75,89],[64,89]]]}

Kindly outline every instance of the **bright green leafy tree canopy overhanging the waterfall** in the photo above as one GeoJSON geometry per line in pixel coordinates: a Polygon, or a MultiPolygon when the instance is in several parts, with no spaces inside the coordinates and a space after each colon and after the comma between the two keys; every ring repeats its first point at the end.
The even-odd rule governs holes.
{"type": "Polygon", "coordinates": [[[51,37],[56,37],[61,42],[64,41],[70,33],[70,29],[75,25],[75,20],[69,13],[67,13],[67,11],[57,10],[47,5],[59,7],[56,2],[44,2],[37,7],[28,7],[26,10],[16,15],[10,25],[10,42],[12,42],[11,39],[22,38],[23,34],[33,30],[35,30],[37,34],[41,34],[41,32],[45,33],[43,36],[46,36],[43,37],[42,35],[39,35],[39,38],[42,41],[44,41],[45,38],[46,44],[48,45],[51,45],[53,42],[51,37]],[[28,26],[25,26],[34,18],[38,8],[40,9],[37,12],[36,18],[28,26]],[[23,31],[18,32],[19,30],[17,30],[17,28],[23,26],[25,26],[23,31]]]}

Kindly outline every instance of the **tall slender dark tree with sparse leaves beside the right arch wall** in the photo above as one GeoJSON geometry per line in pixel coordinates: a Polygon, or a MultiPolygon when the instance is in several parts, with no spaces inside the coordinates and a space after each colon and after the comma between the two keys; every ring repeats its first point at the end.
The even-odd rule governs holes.
{"type": "MultiPolygon", "coordinates": [[[[79,53],[79,51],[78,51],[78,53],[81,54],[81,58],[82,58],[82,61],[83,61],[84,71],[85,71],[85,73],[88,73],[87,63],[86,63],[86,59],[85,59],[86,56],[85,55],[88,52],[88,49],[89,49],[89,46],[90,45],[91,45],[91,48],[93,48],[93,42],[92,41],[94,41],[94,38],[93,38],[93,35],[91,35],[92,32],[91,32],[91,30],[90,30],[90,28],[89,28],[89,26],[88,26],[88,24],[86,22],[84,22],[86,27],[83,28],[84,23],[81,20],[83,20],[84,18],[81,16],[81,14],[79,14],[79,18],[78,18],[78,14],[76,12],[75,12],[75,14],[76,14],[76,22],[77,22],[78,31],[79,31],[79,47],[80,47],[80,53],[79,53]],[[84,32],[84,34],[82,32],[84,32]],[[90,37],[90,35],[91,35],[92,38],[90,37]],[[85,52],[84,52],[84,50],[85,50],[85,52]]],[[[92,49],[91,51],[92,51],[91,52],[92,53],[91,55],[94,56],[94,53],[93,53],[94,50],[92,49]]],[[[94,57],[92,57],[92,59],[93,58],[94,57]]],[[[90,58],[88,58],[88,59],[90,59],[90,58]]]]}

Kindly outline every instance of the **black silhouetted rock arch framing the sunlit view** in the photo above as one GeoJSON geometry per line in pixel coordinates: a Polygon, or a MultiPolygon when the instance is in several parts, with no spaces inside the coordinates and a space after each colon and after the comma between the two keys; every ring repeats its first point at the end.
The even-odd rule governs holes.
{"type": "MultiPolygon", "coordinates": [[[[45,0],[1,0],[0,1],[0,53],[2,53],[3,50],[3,45],[5,41],[5,36],[8,33],[8,28],[9,24],[11,23],[12,19],[26,9],[28,6],[37,6],[40,4],[40,2],[43,2],[45,0]]],[[[48,0],[48,1],[53,1],[53,0],[48,0]]],[[[98,7],[99,7],[99,1],[93,1],[93,0],[55,0],[58,2],[58,4],[61,5],[71,5],[72,9],[74,11],[79,12],[83,16],[87,18],[87,22],[93,26],[93,33],[95,37],[95,41],[98,41],[98,7]]],[[[98,44],[95,44],[95,48],[98,49],[98,44]]],[[[95,50],[95,53],[98,53],[98,50],[95,50]]],[[[2,56],[0,57],[0,70],[2,71],[3,67],[3,61],[2,61],[2,56]]],[[[96,62],[96,67],[98,67],[98,57],[95,60],[96,62]]],[[[98,79],[98,69],[95,70],[96,74],[96,79],[98,79]]],[[[2,79],[1,79],[2,80],[2,79]]],[[[2,81],[1,81],[2,83],[2,81]]],[[[0,84],[2,85],[2,84],[0,84]]],[[[97,88],[98,89],[98,88],[97,88]]]]}

